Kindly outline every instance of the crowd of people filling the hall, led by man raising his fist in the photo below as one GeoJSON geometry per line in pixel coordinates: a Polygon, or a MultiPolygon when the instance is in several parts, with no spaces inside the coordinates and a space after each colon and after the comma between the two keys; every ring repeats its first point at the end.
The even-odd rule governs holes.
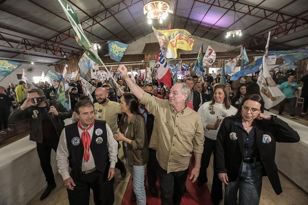
{"type": "MultiPolygon", "coordinates": [[[[208,182],[212,154],[214,204],[223,199],[223,183],[225,204],[259,204],[262,176],[268,176],[276,194],[282,192],[273,150],[276,142],[298,142],[300,138],[277,116],[263,113],[264,101],[256,82],[246,83],[243,78],[233,93],[230,76],[226,85],[221,85],[221,75],[212,72],[203,80],[185,77],[167,89],[155,77],[152,83],[145,83],[135,76],[135,83],[124,65],[119,71],[116,89],[109,83],[91,82],[96,87],[93,101],[83,95],[80,81],[71,81],[71,110],[52,101],[53,87],[48,82],[28,87],[20,81],[8,89],[0,86],[0,102],[6,111],[10,107],[13,111],[15,98],[18,103],[9,118],[2,106],[0,114],[12,124],[29,121],[30,140],[37,144],[47,181],[41,200],[56,187],[52,149],[70,204],[89,204],[90,188],[95,204],[113,204],[115,168],[124,178],[127,167],[133,181],[132,201],[146,204],[145,179],[151,196],[158,197],[159,180],[161,203],[179,205],[187,177],[199,187],[208,182]],[[42,96],[47,101],[34,103],[34,98],[42,96]],[[64,125],[68,118],[72,124],[64,125]],[[126,165],[118,157],[120,148],[126,165]]],[[[283,77],[278,75],[276,79],[281,81],[283,77]]],[[[306,102],[302,112],[306,113],[307,73],[301,80],[306,102]]],[[[280,89],[286,95],[279,109],[282,113],[285,104],[294,104],[298,89],[294,74],[288,74],[280,89]]],[[[3,117],[1,123],[7,130],[3,117]]]]}

